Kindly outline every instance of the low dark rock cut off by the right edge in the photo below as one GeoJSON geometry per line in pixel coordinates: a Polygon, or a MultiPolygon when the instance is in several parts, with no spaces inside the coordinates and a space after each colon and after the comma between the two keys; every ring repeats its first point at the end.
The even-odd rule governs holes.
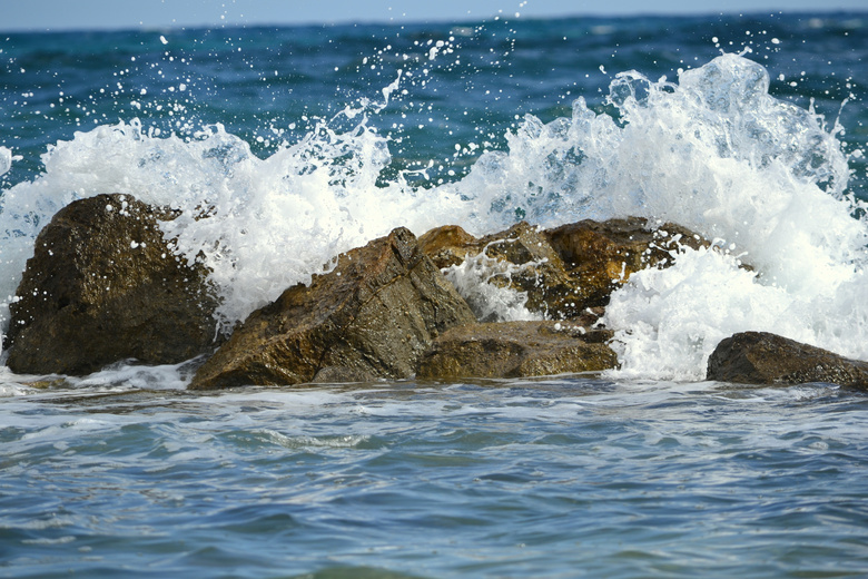
{"type": "Polygon", "coordinates": [[[708,380],[740,384],[828,382],[868,390],[868,362],[767,332],[722,340],[708,361],[708,380]]]}

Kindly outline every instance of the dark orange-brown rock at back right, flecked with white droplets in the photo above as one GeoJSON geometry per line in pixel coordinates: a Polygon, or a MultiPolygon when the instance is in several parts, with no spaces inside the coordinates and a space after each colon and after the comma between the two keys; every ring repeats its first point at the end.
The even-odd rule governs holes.
{"type": "Polygon", "coordinates": [[[645,267],[667,267],[679,248],[711,245],[693,232],[667,223],[649,227],[647,219],[629,217],[584,219],[543,232],[578,284],[578,311],[609,304],[612,292],[645,267]]]}

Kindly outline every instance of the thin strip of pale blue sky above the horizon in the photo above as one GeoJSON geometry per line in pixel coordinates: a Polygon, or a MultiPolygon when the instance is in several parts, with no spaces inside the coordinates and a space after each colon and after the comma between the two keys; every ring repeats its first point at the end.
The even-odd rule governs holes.
{"type": "Polygon", "coordinates": [[[573,14],[866,12],[866,0],[0,0],[0,30],[416,22],[573,14]]]}

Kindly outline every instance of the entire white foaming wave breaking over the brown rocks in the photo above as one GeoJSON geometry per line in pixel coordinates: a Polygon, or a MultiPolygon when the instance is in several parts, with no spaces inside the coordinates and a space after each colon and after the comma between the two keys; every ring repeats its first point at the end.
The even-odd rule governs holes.
{"type": "Polygon", "coordinates": [[[13,294],[50,216],[106,192],[185,210],[165,234],[204,256],[226,324],[398,225],[482,234],[521,218],[552,226],[638,215],[688,226],[730,255],[687,252],[615,293],[605,323],[623,373],[701,379],[717,341],[739,330],[868,357],[868,232],[851,217],[840,127],[769,96],[768,72],[736,55],[678,80],[618,75],[618,120],[581,98],[571,118],[527,116],[507,151],[483,154],[467,177],[433,189],[403,175],[377,184],[391,154],[371,117],[401,79],[383,102],[347,109],[265,159],[220,126],[195,138],[148,134],[138,120],[78,133],[49,148],[39,178],[3,193],[0,297],[13,294]],[[756,273],[739,269],[736,254],[756,273]]]}

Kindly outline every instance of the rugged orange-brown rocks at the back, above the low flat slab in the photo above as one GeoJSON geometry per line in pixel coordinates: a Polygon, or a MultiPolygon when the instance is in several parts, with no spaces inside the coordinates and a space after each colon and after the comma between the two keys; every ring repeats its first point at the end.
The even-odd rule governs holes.
{"type": "Polygon", "coordinates": [[[482,238],[450,225],[420,237],[422,251],[441,268],[484,254],[494,261],[486,283],[524,292],[525,307],[551,320],[599,316],[632,273],[671,265],[682,245],[710,244],[684,227],[649,227],[638,217],[585,219],[542,232],[521,222],[482,238]]]}

